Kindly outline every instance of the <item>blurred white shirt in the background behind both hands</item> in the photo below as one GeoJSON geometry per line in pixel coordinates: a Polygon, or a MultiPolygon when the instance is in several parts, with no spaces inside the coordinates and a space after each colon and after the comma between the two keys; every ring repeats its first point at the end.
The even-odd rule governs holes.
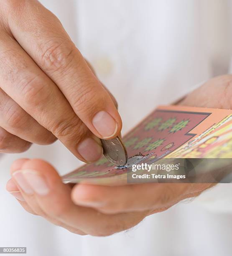
{"type": "MultiPolygon", "coordinates": [[[[231,6],[224,0],[41,0],[63,23],[119,103],[123,133],[159,104],[230,71],[231,6]]],[[[0,159],[0,246],[29,256],[231,255],[232,186],[219,184],[188,203],[106,238],[78,236],[25,212],[5,192],[14,159],[39,157],[61,174],[81,164],[56,142],[0,159]],[[61,157],[62,156],[62,157],[61,157]]]]}

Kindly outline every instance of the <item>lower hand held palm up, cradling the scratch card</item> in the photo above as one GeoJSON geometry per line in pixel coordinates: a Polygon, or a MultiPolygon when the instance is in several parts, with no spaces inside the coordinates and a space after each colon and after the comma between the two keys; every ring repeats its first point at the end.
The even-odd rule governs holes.
{"type": "MultiPolygon", "coordinates": [[[[232,76],[224,75],[209,80],[178,104],[229,109],[232,106],[231,94],[232,76]]],[[[146,216],[167,210],[177,202],[196,197],[214,186],[202,183],[118,187],[63,184],[56,170],[39,159],[19,159],[13,163],[10,172],[12,179],[6,188],[25,210],[73,233],[93,236],[108,236],[131,228],[146,216]],[[38,182],[36,189],[31,186],[28,173],[29,178],[37,175],[43,179],[39,192],[38,182]],[[20,187],[18,174],[26,180],[27,192],[20,187]]]]}

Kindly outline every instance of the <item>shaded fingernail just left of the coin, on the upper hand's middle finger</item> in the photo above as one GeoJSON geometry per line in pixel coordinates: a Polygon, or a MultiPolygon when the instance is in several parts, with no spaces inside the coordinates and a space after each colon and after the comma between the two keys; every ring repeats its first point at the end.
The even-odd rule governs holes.
{"type": "Polygon", "coordinates": [[[103,153],[102,146],[100,146],[93,138],[86,138],[79,143],[77,151],[87,162],[97,161],[103,153]]]}

